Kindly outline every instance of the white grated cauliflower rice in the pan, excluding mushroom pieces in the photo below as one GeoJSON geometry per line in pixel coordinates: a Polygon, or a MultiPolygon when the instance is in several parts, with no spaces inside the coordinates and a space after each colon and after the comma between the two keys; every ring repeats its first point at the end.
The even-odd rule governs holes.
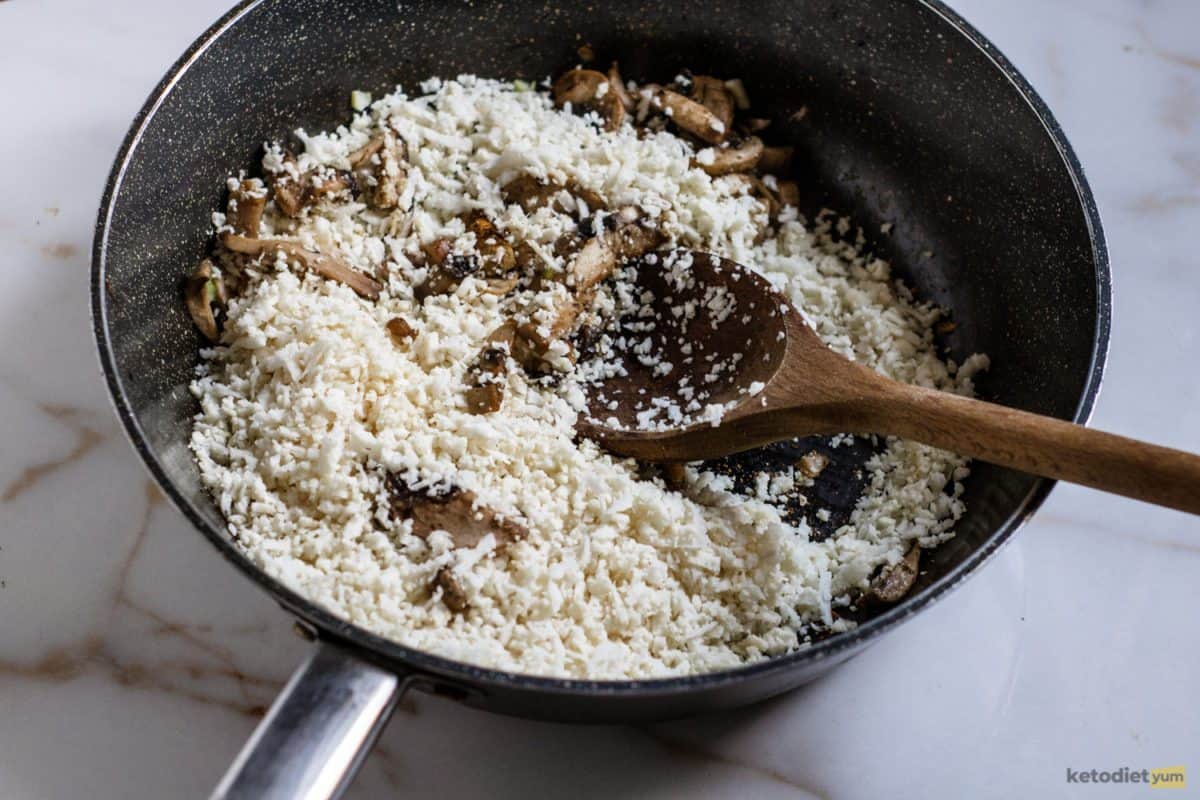
{"type": "MultiPolygon", "coordinates": [[[[672,245],[756,269],[839,353],[898,380],[971,395],[986,360],[941,360],[931,333],[940,311],[914,302],[886,263],[835,243],[832,219],[806,225],[785,207],[772,224],[744,184],[710,178],[683,138],[628,124],[606,132],[545,92],[469,76],[422,84],[416,97],[397,90],[332,133],[298,132],[298,166],[346,169],[384,127],[408,148],[402,211],[322,203],[289,221],[272,203],[263,219],[276,236],[385,276],[377,301],[282,253],[222,263],[240,285],[192,385],[200,411],[191,447],[238,546],[271,576],[374,633],[449,658],[646,679],[787,652],[805,646],[814,626],[845,630],[835,609],[881,565],[914,542],[952,536],[965,462],[914,443],[887,441],[851,522],[818,542],[776,503],[804,485],[799,470],[745,497],[691,465],[680,492],[577,441],[571,375],[552,384],[510,371],[500,410],[473,414],[462,397],[468,363],[514,303],[536,303],[534,293],[504,297],[467,277],[451,293],[414,297],[425,278],[413,259],[420,243],[448,236],[461,252],[476,243],[466,211],[560,263],[553,242],[574,217],[527,213],[502,198],[502,186],[532,174],[577,184],[613,207],[640,206],[672,245]],[[416,331],[403,347],[385,327],[396,317],[416,331]],[[468,489],[528,534],[505,547],[491,535],[473,547],[455,547],[448,533],[418,536],[388,511],[389,474],[414,489],[468,489]],[[436,585],[443,570],[466,610],[452,610],[436,585]]],[[[277,146],[264,169],[283,169],[277,146]]],[[[226,227],[222,215],[216,224],[226,227]]]]}

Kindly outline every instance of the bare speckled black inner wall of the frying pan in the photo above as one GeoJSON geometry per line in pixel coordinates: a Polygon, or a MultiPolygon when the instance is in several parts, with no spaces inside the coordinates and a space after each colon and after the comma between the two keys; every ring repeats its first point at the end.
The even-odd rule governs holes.
{"type": "MultiPolygon", "coordinates": [[[[148,106],[97,235],[97,336],[119,408],[210,537],[226,534],[187,450],[200,339],[181,284],[209,247],[226,175],[253,173],[266,139],[346,121],[352,90],[415,91],[463,72],[540,80],[576,65],[583,42],[632,78],[742,78],[756,114],[797,146],[802,210],[848,215],[919,297],[950,309],[950,357],[991,357],[984,397],[1067,419],[1090,405],[1106,335],[1090,200],[1021,91],[925,4],[263,1],[148,106]]],[[[958,535],[924,561],[917,591],[989,547],[1036,486],[977,464],[958,535]]]]}

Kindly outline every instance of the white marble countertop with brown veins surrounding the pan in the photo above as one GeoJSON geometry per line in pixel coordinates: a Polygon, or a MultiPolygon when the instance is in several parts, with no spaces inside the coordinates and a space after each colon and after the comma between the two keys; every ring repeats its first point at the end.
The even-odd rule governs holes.
{"type": "MultiPolygon", "coordinates": [[[[131,118],[228,0],[0,4],[0,796],[203,796],[304,656],[148,483],[98,375],[91,225],[131,118]]],[[[1054,108],[1108,228],[1096,425],[1200,451],[1200,2],[960,0],[1054,108]]],[[[818,684],[649,728],[418,697],[350,796],[1124,796],[1200,786],[1200,522],[1074,487],[818,684]],[[450,746],[450,742],[454,742],[450,746]]]]}

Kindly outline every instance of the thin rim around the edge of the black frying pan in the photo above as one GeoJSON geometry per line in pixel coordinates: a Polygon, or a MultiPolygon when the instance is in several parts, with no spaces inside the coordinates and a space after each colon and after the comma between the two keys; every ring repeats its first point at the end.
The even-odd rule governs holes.
{"type": "MultiPolygon", "coordinates": [[[[809,648],[796,650],[786,655],[776,656],[756,663],[736,667],[714,673],[702,673],[696,675],[684,675],[678,678],[661,678],[650,680],[576,680],[566,678],[551,678],[544,675],[532,675],[522,673],[505,672],[476,667],[469,663],[454,661],[442,656],[432,655],[422,650],[416,650],[400,644],[391,639],[371,633],[358,625],[350,624],[335,616],[320,606],[307,600],[298,591],[286,587],[265,571],[259,569],[247,555],[245,555],[229,540],[223,531],[210,527],[199,511],[175,488],[166,469],[157,456],[146,445],[144,434],[134,416],[125,387],[121,383],[120,373],[115,361],[115,353],[108,335],[108,307],[104,291],[104,277],[107,273],[108,235],[113,216],[114,199],[121,190],[125,173],[128,169],[131,158],[142,142],[142,138],[154,119],[155,113],[162,106],[175,84],[184,77],[187,70],[199,60],[227,30],[252,12],[258,6],[269,0],[242,0],[229,12],[215,22],[205,30],[187,50],[175,61],[160,80],[150,96],[134,116],[128,132],[126,133],[120,150],[118,151],[113,168],[106,181],[103,198],[95,224],[92,241],[91,261],[91,323],[92,333],[98,348],[101,371],[108,386],[109,401],[121,421],[125,435],[137,451],[142,463],[150,471],[155,482],[162,488],[172,504],[192,523],[193,527],[209,540],[221,555],[234,565],[244,576],[250,578],[262,590],[266,591],[289,614],[307,621],[322,636],[331,639],[349,643],[354,646],[356,655],[379,662],[389,669],[403,673],[420,672],[438,678],[445,678],[451,682],[486,688],[496,686],[508,690],[534,690],[546,694],[560,696],[665,696],[677,693],[689,693],[700,688],[714,688],[722,685],[737,684],[751,678],[790,670],[799,664],[812,664],[822,661],[840,660],[839,656],[846,651],[857,650],[862,645],[878,638],[886,631],[907,621],[914,614],[946,597],[953,589],[956,589],[970,576],[974,575],[984,566],[1000,549],[1012,540],[1016,533],[1042,505],[1055,481],[1042,479],[1037,481],[1026,497],[1020,501],[1016,510],[1000,524],[986,541],[972,552],[961,564],[952,569],[929,587],[916,595],[905,599],[898,606],[875,616],[866,622],[846,633],[841,633],[809,648]]],[[[948,8],[941,0],[908,0],[910,5],[931,12],[941,18],[954,32],[961,35],[968,43],[974,46],[1001,74],[1013,85],[1020,97],[1026,102],[1045,133],[1050,137],[1068,175],[1075,187],[1080,209],[1084,212],[1087,225],[1088,240],[1092,248],[1092,265],[1096,272],[1096,332],[1092,341],[1091,362],[1087,369],[1087,379],[1075,411],[1073,421],[1086,423],[1092,415],[1096,399],[1099,395],[1104,378],[1104,367],[1108,360],[1111,336],[1111,269],[1109,263],[1108,246],[1104,239],[1103,225],[1099,210],[1097,207],[1091,187],[1084,174],[1084,168],[1057,120],[1051,114],[1049,107],[1042,97],[1033,90],[1025,77],[1013,66],[1012,62],[978,30],[967,23],[956,12],[948,8]]]]}

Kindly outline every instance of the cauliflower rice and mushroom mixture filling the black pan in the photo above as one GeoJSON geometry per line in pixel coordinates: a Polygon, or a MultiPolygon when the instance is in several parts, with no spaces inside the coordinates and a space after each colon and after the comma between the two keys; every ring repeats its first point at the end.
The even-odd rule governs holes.
{"type": "Polygon", "coordinates": [[[677,247],[892,378],[970,395],[986,366],[938,356],[942,312],[848,221],[802,218],[739,82],[613,65],[354,102],[229,179],[187,284],[191,446],[257,564],[406,645],[589,679],[737,667],[905,595],[964,512],[958,456],[840,435],[658,467],[575,432],[614,273],[677,247]],[[822,483],[842,453],[848,505],[822,483]]]}

